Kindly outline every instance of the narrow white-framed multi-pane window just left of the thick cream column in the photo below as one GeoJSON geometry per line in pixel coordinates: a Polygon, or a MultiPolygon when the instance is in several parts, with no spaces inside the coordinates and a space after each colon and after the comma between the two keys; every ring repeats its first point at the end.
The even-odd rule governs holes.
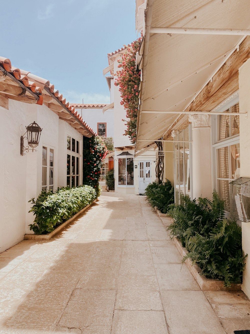
{"type": "Polygon", "coordinates": [[[191,145],[188,143],[189,138],[190,127],[179,131],[177,136],[174,137],[175,141],[181,141],[174,143],[174,187],[175,203],[177,204],[180,204],[181,194],[188,194],[192,197],[190,182],[191,145]]]}

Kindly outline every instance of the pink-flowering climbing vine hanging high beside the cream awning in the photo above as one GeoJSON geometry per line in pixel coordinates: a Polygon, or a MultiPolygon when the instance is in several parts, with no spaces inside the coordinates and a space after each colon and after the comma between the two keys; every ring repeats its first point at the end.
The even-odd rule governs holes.
{"type": "Polygon", "coordinates": [[[123,120],[127,126],[124,136],[128,136],[131,143],[135,143],[136,124],[139,105],[139,84],[141,71],[135,64],[136,52],[139,50],[141,38],[131,43],[122,58],[118,60],[115,85],[119,86],[121,93],[121,105],[126,110],[126,120],[123,120]]]}

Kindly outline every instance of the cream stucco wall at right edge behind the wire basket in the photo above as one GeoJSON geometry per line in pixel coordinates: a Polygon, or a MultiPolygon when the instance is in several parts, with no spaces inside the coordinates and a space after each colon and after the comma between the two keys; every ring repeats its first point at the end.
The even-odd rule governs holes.
{"type": "MultiPolygon", "coordinates": [[[[240,115],[240,175],[250,177],[250,59],[239,69],[240,112],[248,112],[248,118],[240,115]]],[[[250,223],[242,222],[242,247],[248,254],[243,273],[242,290],[250,297],[250,223]]]]}

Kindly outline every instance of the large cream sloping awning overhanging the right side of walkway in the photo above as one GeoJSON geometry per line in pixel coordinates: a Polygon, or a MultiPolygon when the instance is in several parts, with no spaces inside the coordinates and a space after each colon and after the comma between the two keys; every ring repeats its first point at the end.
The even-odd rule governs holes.
{"type": "MultiPolygon", "coordinates": [[[[230,55],[237,52],[245,35],[225,35],[224,30],[249,29],[249,15],[249,0],[148,0],[136,150],[145,146],[140,139],[151,140],[147,142],[150,144],[161,138],[230,55]],[[174,29],[162,33],[159,29],[168,27],[208,29],[207,34],[195,29],[195,34],[175,33],[174,29]],[[154,32],[150,32],[151,28],[154,32]],[[210,34],[209,28],[216,28],[216,34],[210,34]]],[[[202,105],[200,108],[207,111],[202,105]]]]}

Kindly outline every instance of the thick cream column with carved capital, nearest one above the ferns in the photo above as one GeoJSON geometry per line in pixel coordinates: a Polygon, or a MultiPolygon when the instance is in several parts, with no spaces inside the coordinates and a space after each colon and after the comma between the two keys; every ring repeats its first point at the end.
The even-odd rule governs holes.
{"type": "Polygon", "coordinates": [[[189,115],[192,122],[193,197],[212,198],[211,127],[209,115],[189,115]]]}

